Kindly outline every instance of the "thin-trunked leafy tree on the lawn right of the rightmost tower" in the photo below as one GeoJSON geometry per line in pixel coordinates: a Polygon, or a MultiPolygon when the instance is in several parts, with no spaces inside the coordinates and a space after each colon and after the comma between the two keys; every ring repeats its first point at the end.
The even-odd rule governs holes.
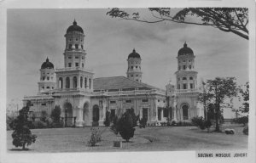
{"type": "Polygon", "coordinates": [[[235,81],[235,77],[216,77],[214,80],[207,80],[206,82],[205,96],[207,100],[213,104],[208,105],[208,107],[211,107],[215,113],[216,132],[220,132],[219,120],[221,117],[221,109],[225,107],[224,100],[235,97],[237,94],[235,81]]]}

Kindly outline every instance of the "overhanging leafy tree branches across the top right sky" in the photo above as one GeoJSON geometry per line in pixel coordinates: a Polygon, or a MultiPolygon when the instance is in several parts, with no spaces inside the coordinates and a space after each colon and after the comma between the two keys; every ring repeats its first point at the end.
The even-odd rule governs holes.
{"type": "Polygon", "coordinates": [[[121,20],[136,20],[145,23],[158,23],[162,21],[172,21],[176,23],[190,25],[205,25],[218,28],[221,31],[232,32],[239,37],[248,37],[248,8],[148,8],[152,15],[150,19],[145,19],[139,12],[128,14],[119,8],[111,8],[107,15],[121,20]],[[193,21],[190,17],[195,17],[193,21]]]}

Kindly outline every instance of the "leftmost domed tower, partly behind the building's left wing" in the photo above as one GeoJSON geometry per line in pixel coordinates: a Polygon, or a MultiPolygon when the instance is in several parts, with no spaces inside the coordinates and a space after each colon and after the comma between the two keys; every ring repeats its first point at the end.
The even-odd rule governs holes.
{"type": "Polygon", "coordinates": [[[38,93],[46,93],[53,89],[55,89],[55,70],[54,65],[49,62],[49,59],[47,58],[41,65],[38,93]]]}

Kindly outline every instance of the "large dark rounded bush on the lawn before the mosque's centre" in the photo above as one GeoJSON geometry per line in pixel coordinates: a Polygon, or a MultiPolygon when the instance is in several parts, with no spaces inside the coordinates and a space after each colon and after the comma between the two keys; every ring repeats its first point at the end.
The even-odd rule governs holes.
{"type": "Polygon", "coordinates": [[[126,142],[129,142],[129,139],[133,138],[137,121],[138,116],[135,115],[134,110],[126,110],[120,118],[115,118],[111,131],[115,134],[119,133],[126,142]]]}

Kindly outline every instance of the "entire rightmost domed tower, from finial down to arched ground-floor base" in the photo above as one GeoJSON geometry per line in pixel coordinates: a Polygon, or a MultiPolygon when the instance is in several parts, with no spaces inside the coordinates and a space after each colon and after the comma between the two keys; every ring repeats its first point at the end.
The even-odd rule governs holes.
{"type": "MultiPolygon", "coordinates": [[[[191,121],[199,115],[197,108],[199,91],[197,89],[197,71],[195,70],[195,55],[185,42],[177,53],[177,89],[176,113],[177,121],[191,121]]],[[[174,117],[175,119],[175,117],[174,117]]]]}

